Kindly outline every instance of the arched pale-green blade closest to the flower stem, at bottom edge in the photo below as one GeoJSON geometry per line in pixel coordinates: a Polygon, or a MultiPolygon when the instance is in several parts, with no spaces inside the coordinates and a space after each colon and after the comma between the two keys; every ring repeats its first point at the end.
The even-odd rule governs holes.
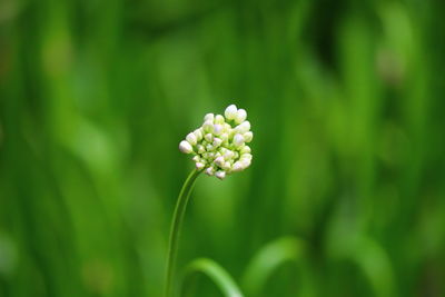
{"type": "Polygon", "coordinates": [[[188,265],[186,269],[186,275],[184,277],[184,284],[189,277],[199,273],[209,277],[219,288],[219,290],[224,294],[224,296],[227,297],[244,296],[241,290],[235,283],[235,280],[231,278],[231,276],[216,261],[207,258],[196,259],[188,265]]]}

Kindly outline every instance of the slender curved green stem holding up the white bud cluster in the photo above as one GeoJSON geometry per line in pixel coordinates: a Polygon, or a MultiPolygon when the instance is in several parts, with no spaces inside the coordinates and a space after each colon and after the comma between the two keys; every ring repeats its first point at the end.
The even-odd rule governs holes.
{"type": "Polygon", "coordinates": [[[200,170],[192,170],[182,188],[179,192],[178,200],[176,202],[174,217],[171,220],[170,238],[168,242],[168,255],[167,255],[167,276],[165,297],[171,297],[172,295],[172,279],[175,274],[176,255],[178,254],[179,234],[182,225],[184,215],[186,214],[187,204],[190,197],[191,189],[194,188],[195,180],[199,176],[200,170]]]}

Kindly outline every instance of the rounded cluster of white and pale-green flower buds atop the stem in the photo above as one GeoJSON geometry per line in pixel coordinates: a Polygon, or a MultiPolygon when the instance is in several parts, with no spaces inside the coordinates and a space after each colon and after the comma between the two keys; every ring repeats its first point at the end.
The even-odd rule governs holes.
{"type": "Polygon", "coordinates": [[[224,115],[207,113],[202,126],[179,143],[180,151],[194,155],[198,170],[219,179],[250,166],[250,147],[246,143],[254,138],[246,110],[231,105],[224,115]]]}

